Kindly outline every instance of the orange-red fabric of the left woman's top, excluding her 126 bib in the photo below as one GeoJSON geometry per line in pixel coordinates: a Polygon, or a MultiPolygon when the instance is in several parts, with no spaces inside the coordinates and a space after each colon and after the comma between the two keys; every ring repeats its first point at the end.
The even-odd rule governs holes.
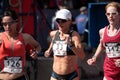
{"type": "Polygon", "coordinates": [[[0,67],[4,68],[4,58],[10,57],[22,57],[22,66],[25,67],[25,44],[21,34],[19,34],[18,39],[14,43],[14,52],[11,49],[12,43],[8,40],[5,33],[2,34],[2,44],[0,46],[0,67]]]}

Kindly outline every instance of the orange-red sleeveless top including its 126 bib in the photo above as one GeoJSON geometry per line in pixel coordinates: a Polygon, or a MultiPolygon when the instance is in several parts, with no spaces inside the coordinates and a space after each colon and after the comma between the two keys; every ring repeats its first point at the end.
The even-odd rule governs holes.
{"type": "Polygon", "coordinates": [[[12,43],[5,33],[2,33],[0,46],[0,68],[4,72],[21,73],[25,67],[25,44],[22,34],[12,43]]]}

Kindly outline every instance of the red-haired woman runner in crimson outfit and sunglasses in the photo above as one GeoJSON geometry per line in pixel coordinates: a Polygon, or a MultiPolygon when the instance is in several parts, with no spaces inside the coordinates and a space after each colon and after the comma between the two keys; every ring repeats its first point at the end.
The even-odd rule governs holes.
{"type": "Polygon", "coordinates": [[[94,64],[105,49],[104,80],[120,80],[120,4],[111,2],[105,10],[109,25],[100,29],[100,43],[87,63],[94,64]]]}

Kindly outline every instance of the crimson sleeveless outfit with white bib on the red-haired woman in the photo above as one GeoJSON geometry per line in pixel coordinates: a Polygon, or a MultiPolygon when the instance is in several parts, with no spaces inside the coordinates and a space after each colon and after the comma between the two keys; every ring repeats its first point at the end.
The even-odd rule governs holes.
{"type": "Polygon", "coordinates": [[[102,44],[106,50],[104,75],[117,77],[120,74],[120,67],[115,65],[115,59],[120,59],[120,29],[116,35],[109,36],[108,27],[105,27],[102,44]]]}

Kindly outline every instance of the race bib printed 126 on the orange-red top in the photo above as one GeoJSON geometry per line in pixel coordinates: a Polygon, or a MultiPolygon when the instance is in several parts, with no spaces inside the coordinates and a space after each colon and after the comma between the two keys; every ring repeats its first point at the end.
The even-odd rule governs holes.
{"type": "Polygon", "coordinates": [[[5,57],[4,72],[21,73],[22,72],[22,58],[21,57],[5,57]]]}

